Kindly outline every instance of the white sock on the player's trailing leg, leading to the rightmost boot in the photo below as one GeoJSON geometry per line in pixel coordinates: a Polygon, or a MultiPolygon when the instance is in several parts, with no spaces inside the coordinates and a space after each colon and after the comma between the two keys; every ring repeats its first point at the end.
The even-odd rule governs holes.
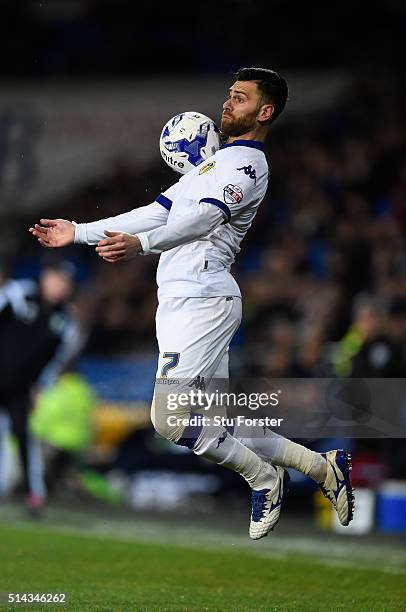
{"type": "Polygon", "coordinates": [[[290,467],[317,483],[326,479],[326,460],[315,451],[292,442],[266,427],[235,427],[234,437],[274,465],[290,467]]]}

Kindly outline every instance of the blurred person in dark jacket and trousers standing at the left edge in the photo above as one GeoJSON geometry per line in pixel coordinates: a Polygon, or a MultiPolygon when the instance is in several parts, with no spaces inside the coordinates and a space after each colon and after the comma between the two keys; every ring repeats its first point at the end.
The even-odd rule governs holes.
{"type": "MultiPolygon", "coordinates": [[[[53,261],[43,267],[38,283],[8,279],[0,287],[0,407],[18,441],[32,513],[40,511],[46,492],[41,449],[29,433],[28,417],[37,389],[52,384],[83,343],[71,306],[74,276],[70,262],[53,261]]],[[[5,443],[4,423],[0,444],[5,443]]]]}

